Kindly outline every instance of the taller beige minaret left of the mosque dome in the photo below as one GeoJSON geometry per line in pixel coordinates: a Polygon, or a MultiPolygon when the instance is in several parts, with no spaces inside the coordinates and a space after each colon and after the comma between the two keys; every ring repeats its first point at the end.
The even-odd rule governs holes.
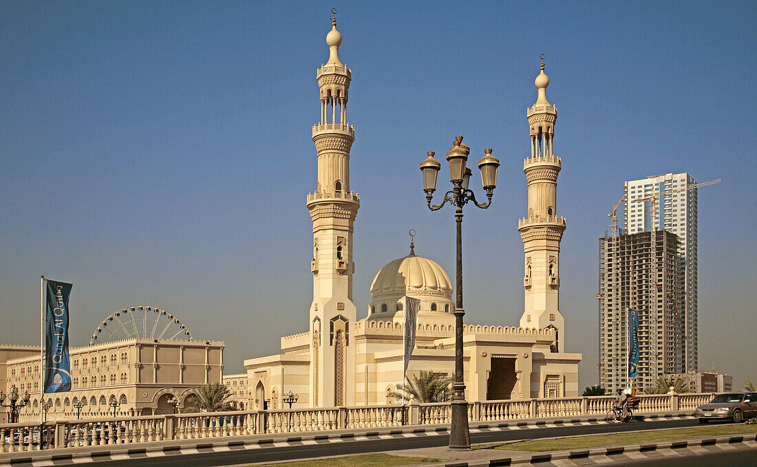
{"type": "Polygon", "coordinates": [[[307,195],[313,219],[310,405],[314,407],[355,403],[353,326],[357,310],[352,301],[352,232],[360,198],[350,191],[355,127],[347,123],[347,90],[352,73],[339,61],[341,34],[334,17],[326,44],[331,50],[329,61],[316,72],[321,90],[320,122],[313,125],[318,185],[307,195]]]}

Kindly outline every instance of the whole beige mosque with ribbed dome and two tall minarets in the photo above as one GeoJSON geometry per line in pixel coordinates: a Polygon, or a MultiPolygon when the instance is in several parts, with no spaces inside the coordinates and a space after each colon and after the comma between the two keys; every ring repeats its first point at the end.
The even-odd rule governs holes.
{"type": "MultiPolygon", "coordinates": [[[[313,126],[318,180],[307,195],[313,220],[313,303],[307,331],[282,337],[282,353],[245,360],[248,407],[361,406],[395,403],[403,381],[403,297],[420,300],[416,347],[407,374],[422,369],[452,375],[453,282],[434,260],[414,251],[392,260],[373,279],[368,316],[357,319],[352,298],[354,221],[360,197],[350,187],[347,123],[352,73],[339,58],[341,34],[332,19],[329,61],[317,70],[320,120],[313,126]]],[[[524,245],[525,310],[519,325],[466,325],[464,379],[469,401],[578,396],[580,353],[565,352],[559,312],[559,244],[565,217],[557,215],[560,157],[553,152],[557,109],[547,101],[544,63],[537,101],[526,111],[531,154],[524,160],[528,216],[519,219],[524,245]]],[[[303,313],[304,318],[304,313],[303,313]]],[[[235,375],[242,381],[242,375],[235,375]]]]}

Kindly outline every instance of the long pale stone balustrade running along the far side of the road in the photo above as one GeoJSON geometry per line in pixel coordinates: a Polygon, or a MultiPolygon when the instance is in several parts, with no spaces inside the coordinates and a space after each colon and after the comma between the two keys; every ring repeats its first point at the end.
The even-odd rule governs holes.
{"type": "MultiPolygon", "coordinates": [[[[692,411],[715,394],[641,395],[638,413],[692,411]]],[[[486,400],[469,403],[471,422],[525,420],[537,417],[603,415],[615,397],[486,400]]],[[[117,417],[0,425],[0,452],[142,444],[167,440],[242,437],[251,434],[301,433],[338,429],[384,428],[450,423],[450,403],[406,406],[354,406],[316,409],[182,413],[165,416],[117,417]]]]}

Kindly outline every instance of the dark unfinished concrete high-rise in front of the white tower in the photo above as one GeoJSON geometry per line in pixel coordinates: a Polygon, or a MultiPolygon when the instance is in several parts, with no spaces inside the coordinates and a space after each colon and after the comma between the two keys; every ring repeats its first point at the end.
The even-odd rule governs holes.
{"type": "Polygon", "coordinates": [[[600,238],[600,384],[604,388],[629,384],[629,308],[639,310],[637,388],[654,384],[661,375],[684,372],[684,271],[679,248],[678,235],[664,230],[654,236],[621,232],[600,238]]]}

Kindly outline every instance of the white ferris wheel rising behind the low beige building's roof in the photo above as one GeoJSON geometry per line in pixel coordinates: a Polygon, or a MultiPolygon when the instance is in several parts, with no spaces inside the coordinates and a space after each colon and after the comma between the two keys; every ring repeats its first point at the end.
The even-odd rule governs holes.
{"type": "Polygon", "coordinates": [[[166,310],[157,307],[129,307],[111,313],[98,325],[89,345],[122,339],[184,339],[192,341],[192,333],[184,323],[166,310]]]}

